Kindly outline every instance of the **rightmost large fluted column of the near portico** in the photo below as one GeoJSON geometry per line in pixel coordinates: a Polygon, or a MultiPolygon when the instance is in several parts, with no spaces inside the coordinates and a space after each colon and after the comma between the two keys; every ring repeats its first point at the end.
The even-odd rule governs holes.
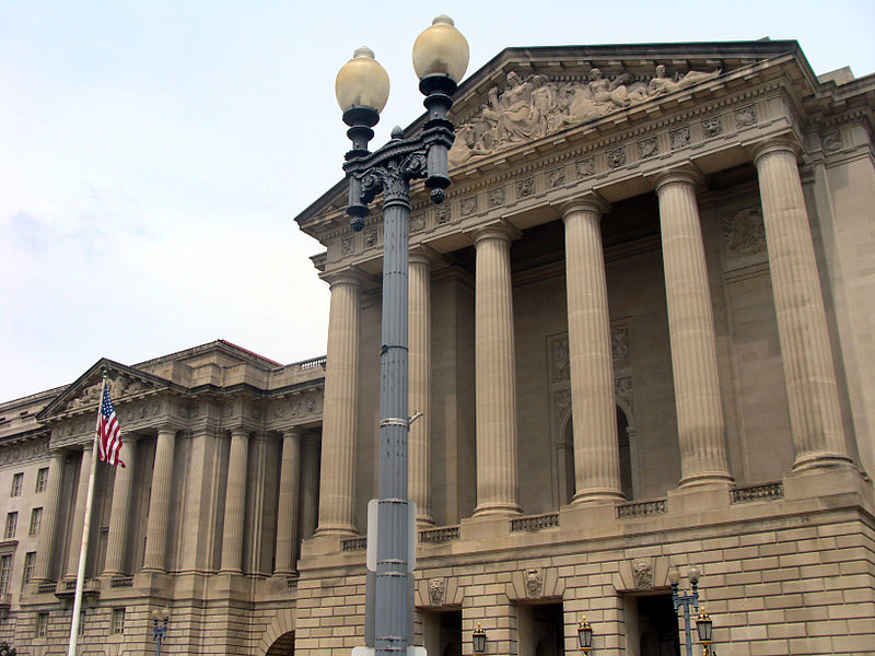
{"type": "Polygon", "coordinates": [[[784,368],[794,469],[849,462],[808,214],[791,141],[760,145],[762,221],[784,368]]]}

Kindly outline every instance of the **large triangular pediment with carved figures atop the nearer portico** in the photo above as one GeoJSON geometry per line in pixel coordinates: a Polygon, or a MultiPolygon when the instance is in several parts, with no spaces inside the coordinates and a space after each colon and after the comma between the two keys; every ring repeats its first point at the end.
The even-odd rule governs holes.
{"type": "MultiPolygon", "coordinates": [[[[817,86],[792,40],[509,48],[465,80],[455,94],[451,118],[457,132],[450,173],[500,163],[521,147],[540,150],[587,124],[604,126],[623,114],[656,114],[661,106],[676,106],[681,98],[707,94],[726,81],[737,89],[750,83],[745,75],[752,69],[758,69],[757,75],[763,68],[779,74],[786,62],[792,62],[793,79],[803,93],[817,86]]],[[[424,120],[423,115],[405,133],[417,133],[424,120]]],[[[316,226],[327,226],[345,204],[341,180],[295,220],[318,236],[316,226]]]]}

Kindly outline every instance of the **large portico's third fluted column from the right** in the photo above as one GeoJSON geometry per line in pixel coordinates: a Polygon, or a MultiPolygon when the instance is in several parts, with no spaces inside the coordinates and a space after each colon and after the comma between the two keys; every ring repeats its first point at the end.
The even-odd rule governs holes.
{"type": "Polygon", "coordinates": [[[574,425],[574,503],[622,499],[610,317],[597,198],[565,208],[565,281],[574,425]]]}

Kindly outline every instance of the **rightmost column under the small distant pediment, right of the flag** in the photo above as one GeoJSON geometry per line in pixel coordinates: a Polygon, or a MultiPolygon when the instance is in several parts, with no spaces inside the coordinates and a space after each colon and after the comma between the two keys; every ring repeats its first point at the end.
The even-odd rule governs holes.
{"type": "Polygon", "coordinates": [[[149,519],[145,524],[143,572],[164,572],[175,447],[176,429],[161,426],[158,430],[155,462],[152,467],[152,492],[149,496],[149,519]]]}

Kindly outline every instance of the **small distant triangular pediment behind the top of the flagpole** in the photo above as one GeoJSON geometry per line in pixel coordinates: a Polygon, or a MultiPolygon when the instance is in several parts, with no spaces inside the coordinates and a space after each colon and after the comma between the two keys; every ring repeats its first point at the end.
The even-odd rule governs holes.
{"type": "Polygon", "coordinates": [[[81,412],[96,412],[104,368],[107,372],[106,386],[116,406],[119,402],[150,396],[171,386],[170,380],[104,358],[46,406],[37,419],[46,422],[81,412]]]}

